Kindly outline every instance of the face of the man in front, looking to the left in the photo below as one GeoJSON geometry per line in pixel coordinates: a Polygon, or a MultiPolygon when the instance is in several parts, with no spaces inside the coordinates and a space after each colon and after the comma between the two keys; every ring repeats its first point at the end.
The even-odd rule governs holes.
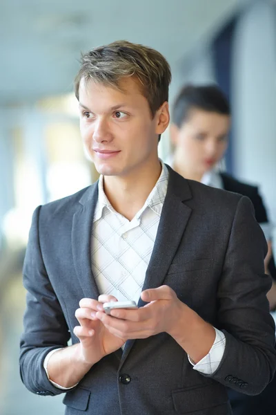
{"type": "Polygon", "coordinates": [[[152,118],[148,101],[132,78],[120,89],[81,81],[80,128],[88,154],[100,174],[137,173],[157,158],[159,111],[152,118]]]}

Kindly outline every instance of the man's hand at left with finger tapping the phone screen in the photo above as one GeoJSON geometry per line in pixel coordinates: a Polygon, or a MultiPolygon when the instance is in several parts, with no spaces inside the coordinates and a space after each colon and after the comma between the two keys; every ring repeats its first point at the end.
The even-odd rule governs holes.
{"type": "Polygon", "coordinates": [[[97,310],[103,310],[102,303],[117,301],[111,295],[100,295],[99,301],[83,298],[75,313],[80,326],[74,333],[80,340],[81,358],[84,362],[94,364],[113,351],[118,350],[126,340],[113,335],[96,317],[97,310]]]}

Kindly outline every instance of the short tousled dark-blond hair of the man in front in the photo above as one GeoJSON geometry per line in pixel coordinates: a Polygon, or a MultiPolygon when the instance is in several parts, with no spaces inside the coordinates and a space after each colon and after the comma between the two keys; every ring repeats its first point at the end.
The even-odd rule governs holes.
{"type": "Polygon", "coordinates": [[[75,95],[79,84],[92,80],[119,89],[124,77],[134,77],[148,100],[152,117],[168,101],[171,80],[170,65],[157,50],[125,40],[99,46],[81,55],[81,68],[75,78],[75,95]]]}

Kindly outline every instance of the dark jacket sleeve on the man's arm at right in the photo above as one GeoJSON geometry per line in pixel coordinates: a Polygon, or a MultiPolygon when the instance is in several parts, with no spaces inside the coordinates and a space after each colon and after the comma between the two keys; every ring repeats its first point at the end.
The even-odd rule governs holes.
{"type": "Polygon", "coordinates": [[[266,240],[246,196],[239,199],[219,281],[217,329],[226,336],[221,363],[210,375],[248,395],[259,394],[276,367],[275,324],[266,293],[266,240]]]}

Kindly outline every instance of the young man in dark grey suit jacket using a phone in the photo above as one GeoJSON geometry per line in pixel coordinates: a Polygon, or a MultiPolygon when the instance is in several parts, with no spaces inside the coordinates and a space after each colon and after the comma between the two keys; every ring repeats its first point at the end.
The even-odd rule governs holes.
{"type": "Polygon", "coordinates": [[[83,55],[81,136],[101,177],[34,212],[21,377],[40,395],[66,391],[66,414],[231,414],[226,386],[259,394],[275,371],[250,201],[157,156],[169,83],[145,46],[83,55]],[[103,312],[124,299],[139,308],[103,312]]]}

